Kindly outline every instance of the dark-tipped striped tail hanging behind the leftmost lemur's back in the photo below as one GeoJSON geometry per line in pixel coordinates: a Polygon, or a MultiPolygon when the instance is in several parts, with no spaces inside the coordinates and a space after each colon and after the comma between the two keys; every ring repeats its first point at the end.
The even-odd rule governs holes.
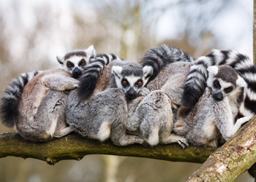
{"type": "Polygon", "coordinates": [[[14,127],[18,117],[18,106],[25,85],[40,71],[33,71],[21,74],[18,78],[12,79],[1,95],[1,123],[6,127],[14,127]]]}

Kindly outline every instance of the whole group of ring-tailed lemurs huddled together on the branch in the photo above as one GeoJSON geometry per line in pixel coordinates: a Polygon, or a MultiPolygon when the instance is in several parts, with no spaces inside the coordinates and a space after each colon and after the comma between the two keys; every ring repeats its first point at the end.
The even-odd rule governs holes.
{"type": "Polygon", "coordinates": [[[140,66],[90,46],[57,60],[63,68],[21,74],[2,93],[2,124],[29,141],[77,132],[118,146],[217,147],[256,114],[256,67],[235,51],[194,59],[163,44],[140,66]]]}

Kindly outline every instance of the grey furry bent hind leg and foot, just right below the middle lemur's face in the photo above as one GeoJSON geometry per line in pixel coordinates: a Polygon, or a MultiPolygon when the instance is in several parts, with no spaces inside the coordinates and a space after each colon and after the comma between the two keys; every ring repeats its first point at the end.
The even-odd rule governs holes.
{"type": "Polygon", "coordinates": [[[155,146],[158,143],[179,143],[183,148],[188,146],[185,138],[171,134],[173,112],[171,100],[164,92],[151,92],[140,103],[137,111],[143,114],[140,131],[148,144],[155,146]]]}

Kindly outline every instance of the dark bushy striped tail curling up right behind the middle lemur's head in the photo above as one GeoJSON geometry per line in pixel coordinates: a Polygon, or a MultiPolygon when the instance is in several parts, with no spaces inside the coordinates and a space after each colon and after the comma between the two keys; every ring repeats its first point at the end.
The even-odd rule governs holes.
{"type": "Polygon", "coordinates": [[[142,59],[143,66],[153,67],[153,75],[148,82],[155,79],[162,68],[177,61],[192,62],[194,58],[176,47],[165,44],[147,50],[142,59]]]}

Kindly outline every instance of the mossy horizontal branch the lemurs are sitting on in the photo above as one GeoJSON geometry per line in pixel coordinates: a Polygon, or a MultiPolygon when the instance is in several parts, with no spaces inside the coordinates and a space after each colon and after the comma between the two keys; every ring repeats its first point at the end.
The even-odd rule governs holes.
{"type": "Polygon", "coordinates": [[[34,158],[46,161],[49,165],[54,165],[64,159],[80,160],[88,154],[203,163],[214,150],[210,147],[195,146],[182,149],[178,144],[159,145],[154,148],[140,145],[115,146],[110,141],[99,143],[99,141],[82,138],[75,134],[47,143],[31,143],[14,132],[0,134],[0,158],[7,156],[34,158]]]}

